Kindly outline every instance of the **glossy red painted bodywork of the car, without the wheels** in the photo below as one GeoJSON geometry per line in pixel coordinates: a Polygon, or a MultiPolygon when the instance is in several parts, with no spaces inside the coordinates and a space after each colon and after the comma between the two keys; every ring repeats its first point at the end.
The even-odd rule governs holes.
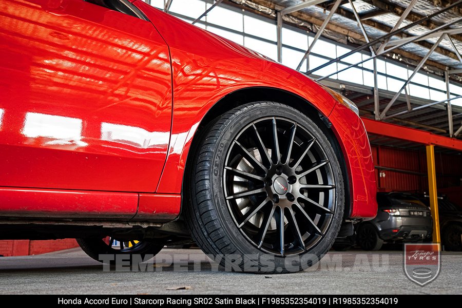
{"type": "Polygon", "coordinates": [[[207,111],[236,90],[267,87],[329,117],[347,161],[351,217],[375,217],[371,150],[356,114],[299,72],[133,4],[152,24],[82,0],[0,3],[0,215],[174,219],[207,111]]]}

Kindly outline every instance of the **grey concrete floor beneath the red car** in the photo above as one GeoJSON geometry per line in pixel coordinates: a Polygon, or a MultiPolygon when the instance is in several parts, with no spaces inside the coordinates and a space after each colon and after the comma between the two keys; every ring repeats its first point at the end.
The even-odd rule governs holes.
{"type": "Polygon", "coordinates": [[[462,254],[455,253],[442,253],[440,275],[424,287],[405,276],[398,251],[331,252],[314,268],[286,275],[225,272],[199,249],[164,249],[157,257],[163,263],[148,263],[146,272],[105,272],[80,248],[2,257],[0,294],[462,294],[462,254]]]}

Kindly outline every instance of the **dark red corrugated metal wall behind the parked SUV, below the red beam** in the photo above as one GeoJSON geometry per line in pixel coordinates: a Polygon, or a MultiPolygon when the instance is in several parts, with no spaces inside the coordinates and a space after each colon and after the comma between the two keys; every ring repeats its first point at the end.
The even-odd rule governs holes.
{"type": "MultiPolygon", "coordinates": [[[[428,189],[425,151],[372,146],[372,153],[380,191],[424,192],[428,189]]],[[[438,189],[460,187],[462,194],[462,155],[436,153],[435,167],[438,189]]]]}

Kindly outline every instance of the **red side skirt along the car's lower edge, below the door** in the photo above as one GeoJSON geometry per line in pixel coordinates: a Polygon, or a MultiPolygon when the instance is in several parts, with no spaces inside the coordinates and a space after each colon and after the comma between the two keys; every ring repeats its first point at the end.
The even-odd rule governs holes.
{"type": "Polygon", "coordinates": [[[73,219],[165,222],[180,213],[181,196],[0,187],[0,220],[73,219]]]}

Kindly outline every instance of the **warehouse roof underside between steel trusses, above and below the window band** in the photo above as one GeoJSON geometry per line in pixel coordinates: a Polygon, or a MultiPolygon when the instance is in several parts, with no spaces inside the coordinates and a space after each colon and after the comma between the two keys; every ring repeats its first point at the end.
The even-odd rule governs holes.
{"type": "MultiPolygon", "coordinates": [[[[277,12],[285,9],[290,13],[283,15],[284,24],[316,33],[322,22],[328,17],[336,1],[225,0],[224,3],[239,6],[271,18],[276,18],[277,12]],[[300,10],[287,10],[287,8],[297,8],[303,3],[311,3],[312,5],[305,5],[300,10]]],[[[370,41],[393,30],[397,30],[398,33],[389,37],[389,42],[386,44],[390,46],[406,43],[416,36],[425,35],[383,54],[383,57],[399,61],[402,64],[416,66],[425,58],[429,50],[435,47],[421,70],[439,75],[441,80],[444,80],[445,70],[448,70],[451,72],[449,74],[450,81],[462,82],[462,57],[460,56],[462,52],[462,1],[345,0],[335,10],[329,25],[322,32],[322,36],[335,42],[350,45],[352,48],[365,44],[366,39],[357,22],[358,17],[370,41]],[[355,16],[356,13],[358,16],[355,16]],[[403,15],[406,15],[406,18],[401,18],[403,15]],[[399,23],[400,18],[402,19],[401,23],[399,23]],[[403,30],[403,28],[406,29],[403,30]],[[448,35],[442,35],[439,44],[434,46],[442,33],[448,35]]],[[[382,40],[380,43],[383,42],[386,40],[382,40]]],[[[364,51],[369,51],[369,49],[364,49],[364,51]]],[[[314,74],[311,75],[315,78],[319,77],[314,74]]],[[[322,82],[352,99],[359,106],[363,117],[375,117],[372,87],[329,78],[322,82]]],[[[386,108],[394,94],[391,91],[380,90],[380,110],[386,108]]],[[[434,103],[434,101],[411,96],[406,98],[405,94],[401,94],[387,111],[386,117],[381,120],[448,136],[449,122],[446,104],[440,103],[418,108],[429,103],[434,103]],[[416,107],[417,109],[415,109],[416,107]],[[414,110],[407,112],[409,108],[414,110]]],[[[453,106],[452,109],[455,131],[462,121],[462,107],[453,106]]],[[[462,133],[457,138],[461,139],[462,133]]]]}

